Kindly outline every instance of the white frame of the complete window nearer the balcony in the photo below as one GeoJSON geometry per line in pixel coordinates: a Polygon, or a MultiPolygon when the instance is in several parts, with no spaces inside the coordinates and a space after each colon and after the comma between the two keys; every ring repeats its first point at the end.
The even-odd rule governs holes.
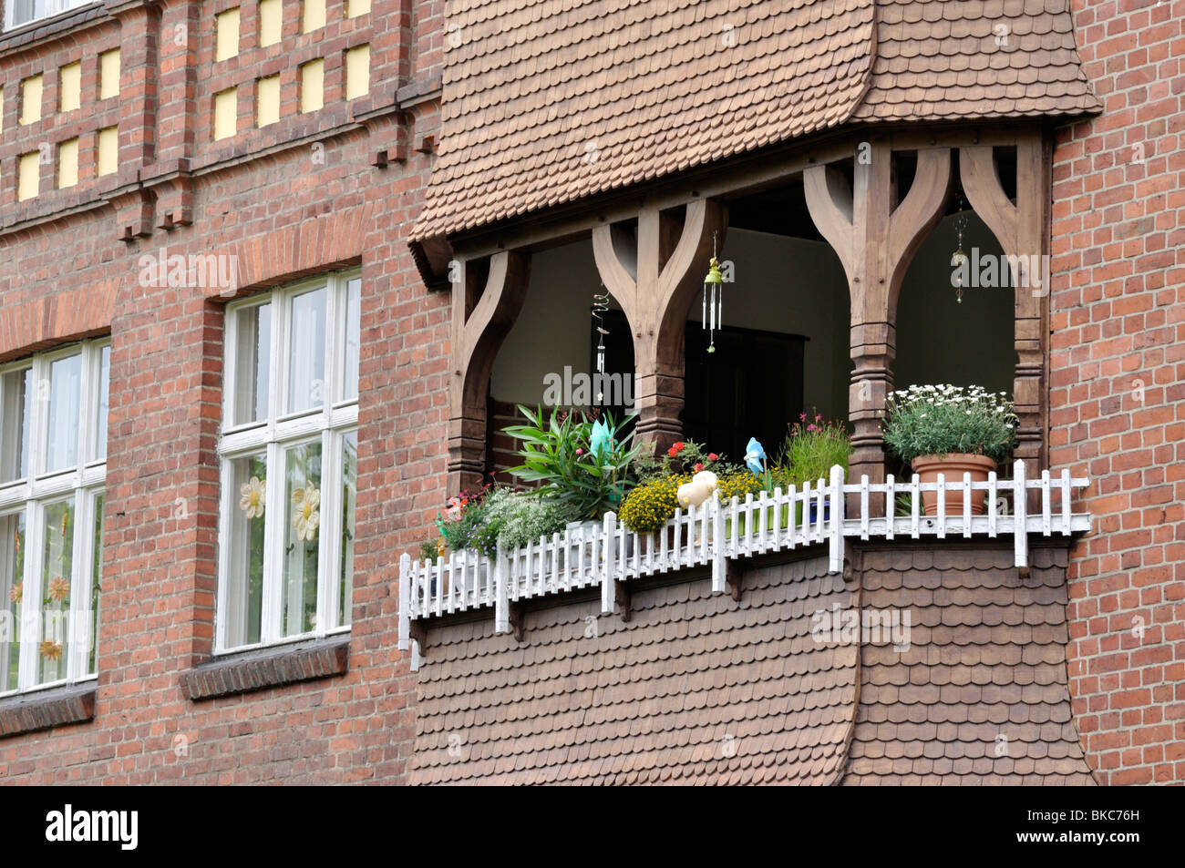
{"type": "MultiPolygon", "coordinates": [[[[334,272],[314,279],[281,287],[268,292],[233,302],[225,311],[225,352],[223,368],[223,422],[233,419],[238,381],[238,313],[246,308],[271,303],[271,348],[268,359],[268,409],[265,418],[224,427],[218,439],[222,493],[218,503],[218,594],[214,606],[214,654],[239,654],[256,648],[324,638],[350,632],[352,612],[339,612],[338,580],[341,570],[341,476],[345,441],[358,430],[358,398],[346,398],[342,367],[346,348],[346,304],[350,282],[361,278],[358,270],[334,272]],[[296,413],[287,412],[289,323],[293,298],[305,292],[326,289],[324,400],[319,409],[296,413]],[[321,523],[318,531],[316,629],[295,636],[283,636],[282,590],[284,521],[287,503],[284,452],[292,446],[320,442],[321,444],[321,523]],[[261,602],[260,641],[228,647],[226,599],[230,583],[230,535],[233,510],[238,509],[239,493],[232,490],[232,463],[236,458],[263,455],[267,461],[264,482],[265,510],[263,551],[263,599],[261,602]],[[341,616],[342,624],[334,624],[341,616]]],[[[360,298],[359,298],[360,302],[360,298]]],[[[357,468],[356,468],[357,470],[357,468]]],[[[352,597],[352,593],[350,594],[352,597]]]]}

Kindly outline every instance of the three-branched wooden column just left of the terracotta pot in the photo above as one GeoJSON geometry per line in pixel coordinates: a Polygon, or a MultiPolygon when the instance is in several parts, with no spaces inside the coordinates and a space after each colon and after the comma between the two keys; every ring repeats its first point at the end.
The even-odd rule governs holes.
{"type": "Polygon", "coordinates": [[[844,265],[851,292],[851,353],[856,369],[848,390],[854,451],[850,478],[884,481],[880,424],[892,391],[897,297],[910,259],[942,216],[950,192],[950,149],[917,152],[917,171],[897,205],[897,179],[888,140],[858,154],[850,187],[837,166],[803,172],[811,219],[844,265]]]}

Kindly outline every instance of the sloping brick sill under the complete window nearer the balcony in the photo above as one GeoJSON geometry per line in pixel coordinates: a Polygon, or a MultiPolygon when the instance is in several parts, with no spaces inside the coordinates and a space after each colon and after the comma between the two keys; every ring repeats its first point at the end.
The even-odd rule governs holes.
{"type": "Polygon", "coordinates": [[[246,651],[214,660],[181,675],[181,693],[199,701],[264,690],[297,681],[328,679],[350,669],[350,636],[334,636],[289,648],[246,651]]]}

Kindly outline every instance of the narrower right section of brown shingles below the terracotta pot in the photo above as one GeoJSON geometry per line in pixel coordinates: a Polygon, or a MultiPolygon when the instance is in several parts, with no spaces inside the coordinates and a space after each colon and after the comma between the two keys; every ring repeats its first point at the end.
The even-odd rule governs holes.
{"type": "Polygon", "coordinates": [[[1029,578],[998,549],[873,549],[866,607],[911,613],[910,643],[860,649],[844,784],[1093,784],[1070,714],[1064,547],[1029,578]]]}

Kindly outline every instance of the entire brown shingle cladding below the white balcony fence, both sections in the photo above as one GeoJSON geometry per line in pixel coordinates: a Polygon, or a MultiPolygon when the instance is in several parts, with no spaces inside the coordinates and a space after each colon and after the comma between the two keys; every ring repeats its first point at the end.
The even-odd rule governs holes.
{"type": "MultiPolygon", "coordinates": [[[[1065,549],[870,547],[429,628],[414,784],[1091,784],[1070,716],[1065,549]],[[910,612],[909,647],[816,642],[833,606],[910,612]],[[859,661],[859,666],[857,666],[859,661]],[[859,681],[859,684],[857,684],[859,681]]],[[[903,616],[904,617],[904,616],[903,616]]],[[[827,637],[824,637],[825,639],[827,637]]]]}

